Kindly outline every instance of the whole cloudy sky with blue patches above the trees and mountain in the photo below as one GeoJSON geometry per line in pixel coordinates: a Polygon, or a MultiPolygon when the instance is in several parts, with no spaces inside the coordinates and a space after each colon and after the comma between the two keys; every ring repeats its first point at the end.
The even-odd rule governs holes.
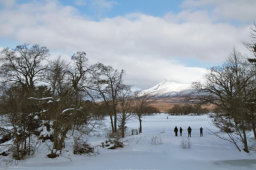
{"type": "Polygon", "coordinates": [[[251,56],[255,0],[0,0],[0,50],[39,44],[70,61],[84,51],[126,71],[145,90],[164,79],[190,84],[232,47],[251,56]]]}

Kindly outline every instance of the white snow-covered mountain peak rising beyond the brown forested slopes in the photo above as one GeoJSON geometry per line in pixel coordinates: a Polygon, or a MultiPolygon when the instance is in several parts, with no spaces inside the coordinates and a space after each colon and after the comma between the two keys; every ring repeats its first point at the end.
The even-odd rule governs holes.
{"type": "Polygon", "coordinates": [[[190,84],[179,84],[163,80],[154,87],[143,90],[142,92],[150,93],[154,98],[181,97],[193,90],[190,84]]]}

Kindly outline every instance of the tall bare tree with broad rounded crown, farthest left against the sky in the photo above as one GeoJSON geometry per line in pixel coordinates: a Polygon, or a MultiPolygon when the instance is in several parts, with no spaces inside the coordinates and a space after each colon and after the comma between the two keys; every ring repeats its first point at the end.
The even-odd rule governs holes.
{"type": "MultiPolygon", "coordinates": [[[[16,105],[19,106],[17,107],[17,112],[13,113],[9,110],[9,114],[13,113],[12,118],[14,122],[12,124],[14,126],[16,126],[17,123],[19,124],[16,128],[18,127],[19,136],[22,136],[21,138],[16,138],[17,142],[22,143],[20,148],[21,157],[17,154],[17,159],[23,158],[27,153],[27,137],[29,137],[28,153],[30,154],[31,138],[28,135],[31,135],[31,132],[28,132],[28,130],[32,130],[32,128],[28,126],[31,123],[29,115],[33,111],[31,110],[32,107],[28,104],[27,98],[33,95],[35,84],[42,80],[43,70],[46,69],[46,67],[43,67],[42,62],[45,61],[49,55],[49,50],[46,47],[34,45],[28,48],[28,44],[19,45],[15,49],[4,48],[0,53],[1,83],[9,85],[10,89],[19,87],[19,99],[21,96],[23,99],[20,101],[12,100],[12,103],[16,101],[16,105]]],[[[5,110],[6,109],[7,108],[5,108],[5,110]]],[[[5,114],[8,115],[7,110],[5,114]]]]}

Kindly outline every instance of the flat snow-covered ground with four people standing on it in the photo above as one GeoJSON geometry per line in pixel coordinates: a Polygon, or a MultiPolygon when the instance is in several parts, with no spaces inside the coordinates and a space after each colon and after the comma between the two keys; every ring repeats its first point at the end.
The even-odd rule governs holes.
{"type": "MultiPolygon", "coordinates": [[[[239,152],[230,142],[209,135],[207,128],[217,131],[209,125],[210,118],[203,116],[168,116],[160,114],[143,117],[142,134],[130,136],[134,138],[130,144],[122,149],[109,150],[98,147],[100,154],[95,157],[74,155],[70,147],[60,157],[47,158],[45,153],[20,163],[17,166],[0,166],[0,169],[40,169],[40,170],[211,170],[211,169],[256,169],[256,154],[250,155],[239,152]],[[183,136],[175,137],[174,128],[180,126],[183,136]],[[192,128],[190,141],[191,149],[180,147],[182,139],[187,139],[187,128],[192,128]],[[200,137],[199,129],[202,127],[203,137],[200,137]],[[164,133],[160,133],[164,131],[164,133]],[[161,139],[162,145],[151,145],[153,137],[161,139]],[[71,158],[68,159],[68,158],[71,158]]],[[[132,129],[138,129],[139,122],[126,124],[132,129]]],[[[93,136],[89,142],[100,145],[105,141],[104,136],[93,136]]],[[[242,149],[242,148],[241,148],[242,149]]]]}

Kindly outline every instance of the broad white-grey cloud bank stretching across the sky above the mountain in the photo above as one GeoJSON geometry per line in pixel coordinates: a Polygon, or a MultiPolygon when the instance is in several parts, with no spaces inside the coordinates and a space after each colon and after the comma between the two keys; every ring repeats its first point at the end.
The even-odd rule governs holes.
{"type": "MultiPolygon", "coordinates": [[[[67,58],[75,51],[85,51],[91,63],[126,70],[126,82],[141,89],[163,79],[190,83],[200,79],[205,69],[185,67],[176,58],[218,63],[233,45],[246,53],[241,41],[250,41],[249,25],[234,27],[216,22],[219,16],[213,17],[205,9],[194,10],[208,2],[216,6],[214,13],[224,15],[218,12],[222,1],[204,0],[185,1],[184,11],[163,18],[136,13],[99,22],[81,17],[74,7],[57,1],[14,4],[0,11],[0,37],[46,46],[53,57],[67,58]]],[[[95,3],[111,8],[106,1],[95,3]]]]}

